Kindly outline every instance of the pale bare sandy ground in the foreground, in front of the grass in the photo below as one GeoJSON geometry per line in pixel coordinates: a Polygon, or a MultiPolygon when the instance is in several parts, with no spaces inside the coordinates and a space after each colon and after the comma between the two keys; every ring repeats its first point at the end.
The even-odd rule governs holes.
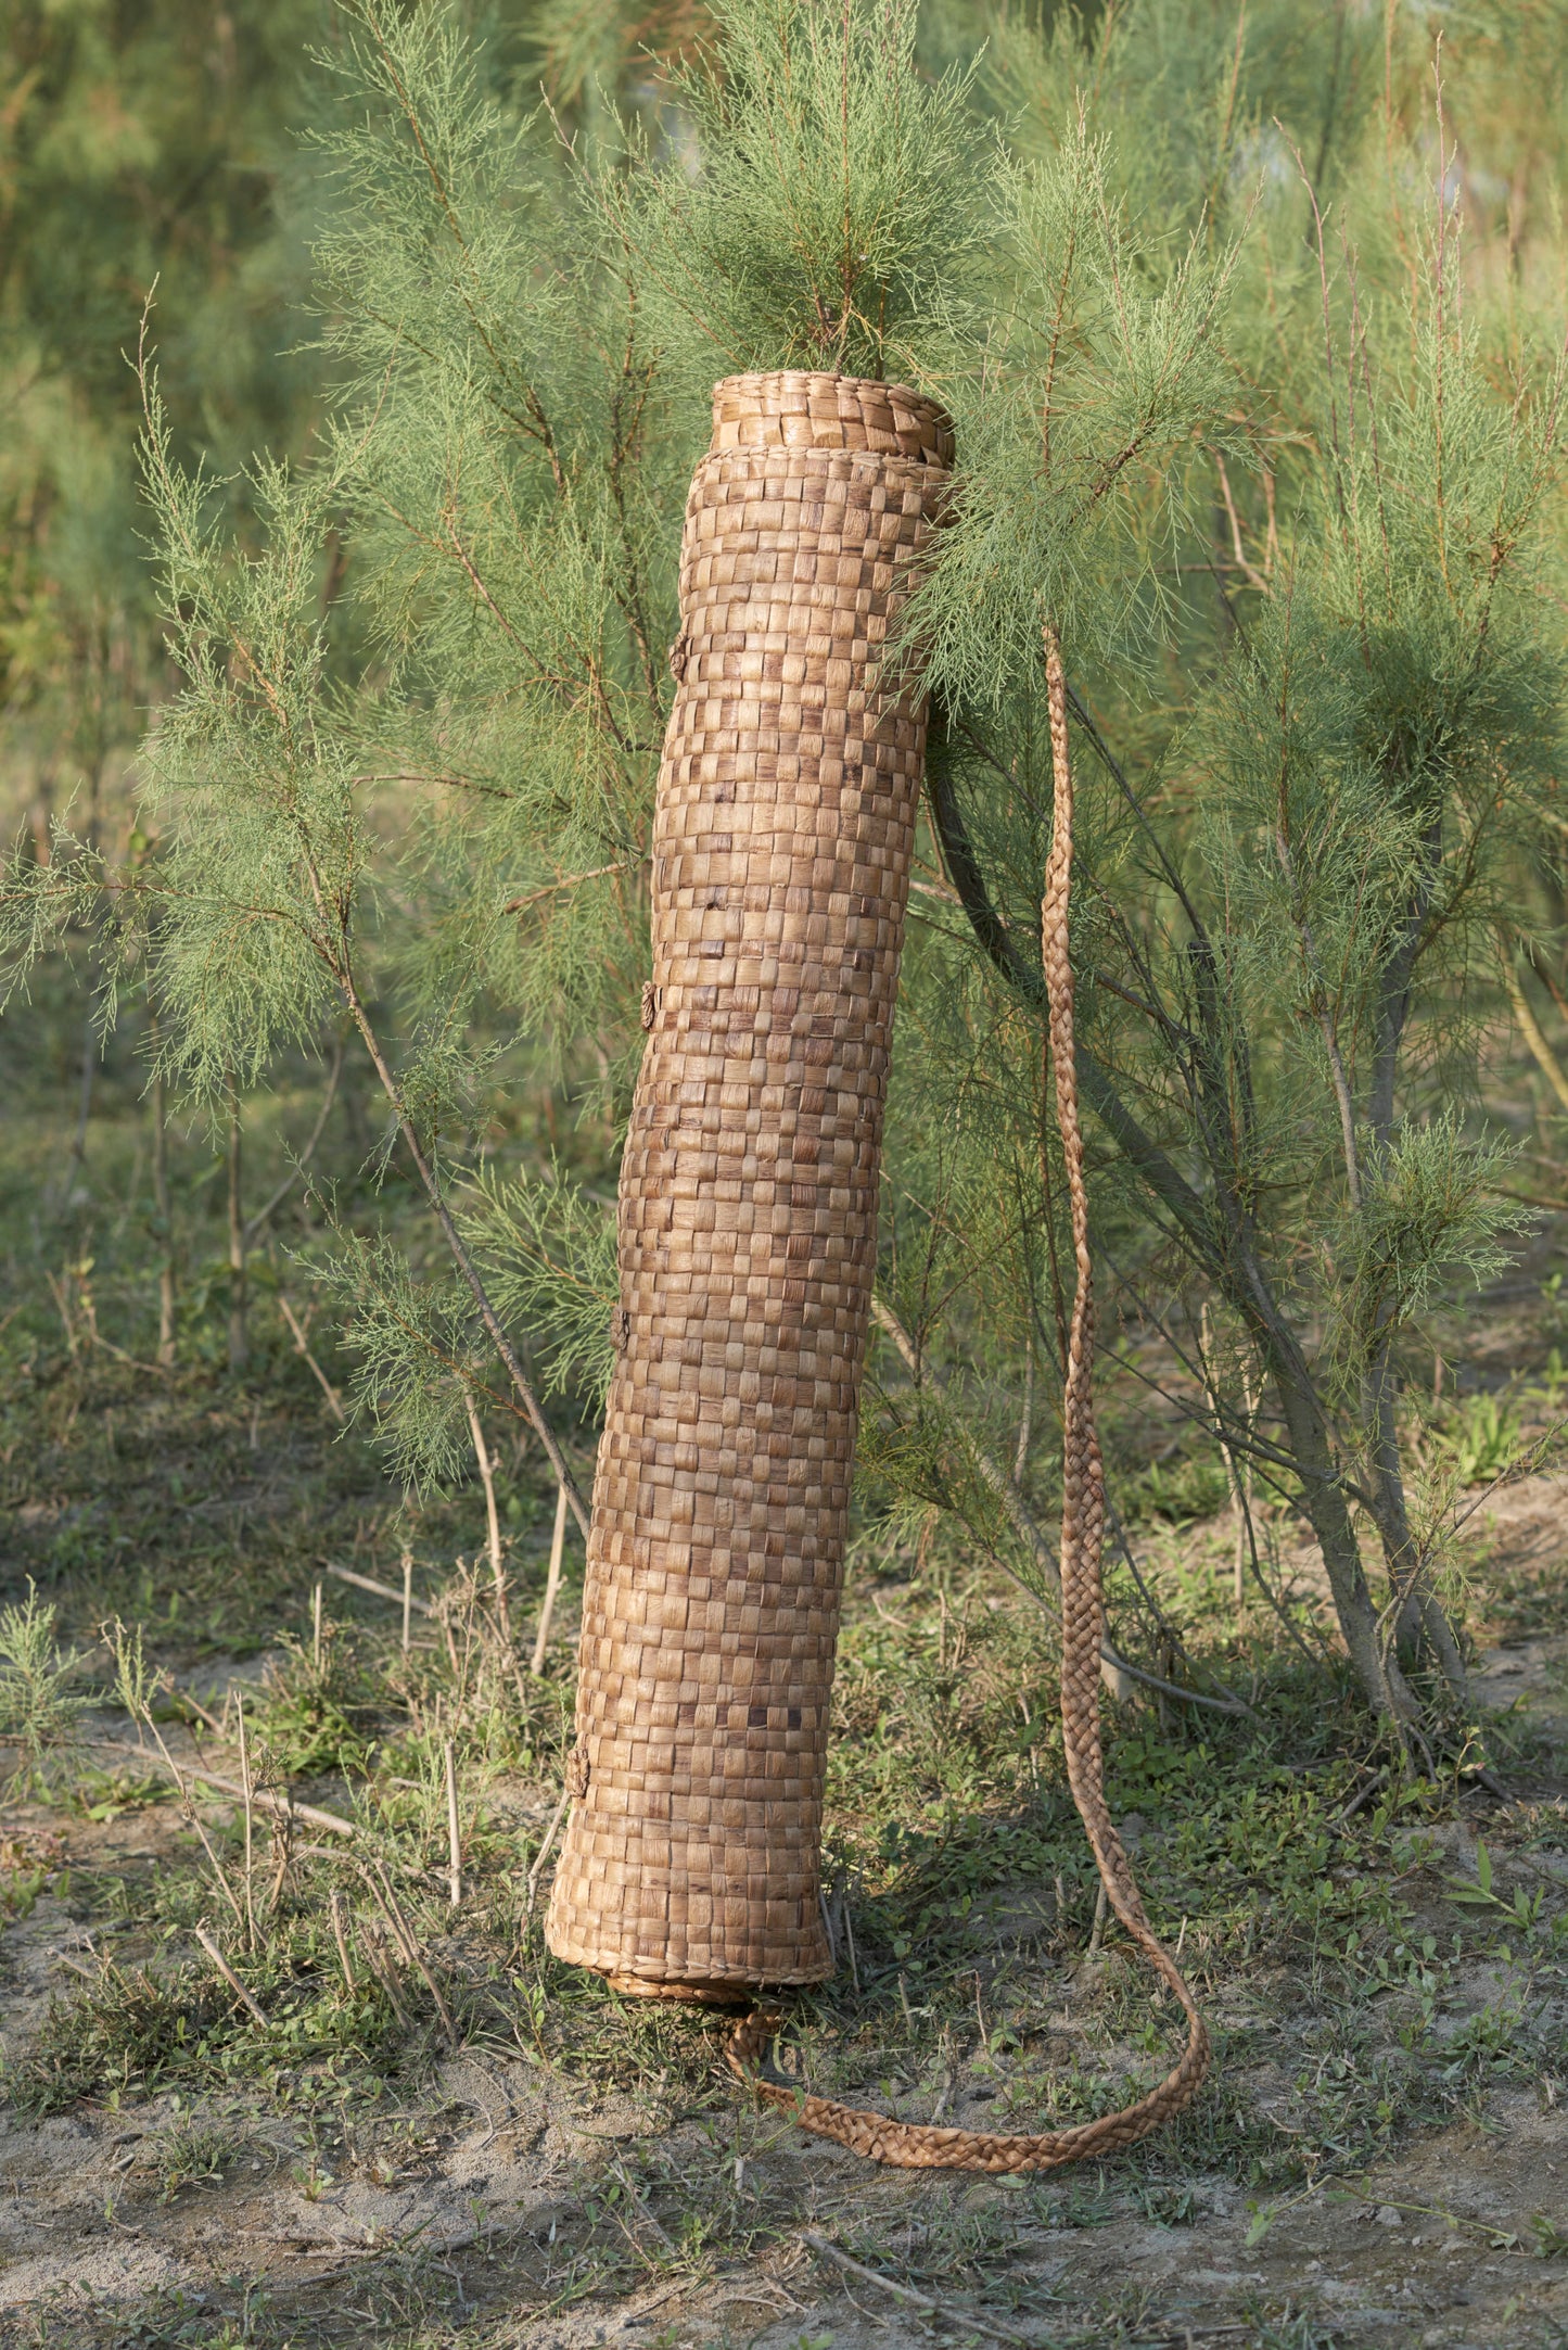
{"type": "MultiPolygon", "coordinates": [[[[1469,1539],[1519,1567],[1544,1565],[1568,1542],[1566,1502],[1561,1483],[1530,1480],[1488,1504],[1469,1539]]],[[[1519,1706],[1568,1746],[1568,1638],[1490,1650],[1479,1659],[1476,1694],[1488,1706],[1519,1706]]],[[[1540,1819],[1542,1798],[1552,1805],[1563,1793],[1556,1781],[1521,1781],[1509,1786],[1507,1807],[1481,1798],[1469,1810],[1490,1838],[1505,1810],[1540,1819]]],[[[42,1854],[155,1868],[172,1828],[167,1807],[94,1826],[12,1805],[0,1819],[0,1856],[9,1852],[14,1866],[42,1854]]],[[[1152,1824],[1147,1835],[1157,1833],[1152,1824]]],[[[1408,1899],[1441,1918],[1441,1873],[1474,1873],[1474,1824],[1446,1826],[1439,1845],[1408,1899]]],[[[1542,1882],[1568,1885],[1568,1852],[1537,1835],[1500,1885],[1542,1882]]],[[[26,2054],[49,1998],[92,1972],[89,1929],[42,1894],[0,1936],[7,2056],[26,2054]]],[[[1081,1962],[1063,1962],[1065,2014],[1074,1988],[1081,1962]]],[[[1476,1967],[1460,2005],[1474,2012],[1493,1993],[1476,1967]]],[[[1267,1983],[1258,1995],[1267,2005],[1267,1983]]],[[[1561,2037],[1561,1974],[1544,1995],[1559,2002],[1561,2037]]],[[[1286,2087],[1288,2021],[1274,2056],[1258,2063],[1253,2049],[1248,2042],[1246,2089],[1267,2106],[1286,2087]]],[[[959,2092],[950,2110],[978,2122],[985,2106],[966,2113],[959,2092]]],[[[1182,2195],[1161,2221],[1114,2164],[1051,2181],[882,2171],[738,2101],[717,2117],[651,2127],[642,2103],[595,2096],[491,2052],[451,2059],[362,2141],[327,2150],[320,2138],[310,2146],[308,2127],[259,2115],[240,2096],[209,2099],[197,2120],[226,2131],[221,2178],[167,2193],[167,2148],[190,2122],[190,2106],[181,2113],[174,2096],[42,2122],[0,2113],[5,2350],[78,2338],[92,2312],[106,2326],[92,2338],[103,2343],[216,2341],[223,2312],[247,2289],[266,2298],[275,2322],[296,2312],[301,2343],[369,2341],[353,2312],[367,2277],[393,2270],[418,2270],[421,2289],[444,2298],[449,2331],[437,2334],[430,2319],[433,2338],[447,2341],[468,2317],[475,2341],[489,2341],[489,2326],[510,2312],[496,2338],[538,2350],[1568,2343],[1568,2129],[1552,2084],[1500,2082],[1462,2124],[1408,2138],[1373,2171],[1286,2197],[1262,2216],[1237,2181],[1182,2174],[1182,2195]],[[628,2162],[637,2164],[637,2197],[618,2193],[628,2162]],[[693,2275],[670,2261],[661,2209],[675,2223],[677,2209],[705,2195],[715,2211],[724,2204],[729,2242],[743,2240],[752,2211],[764,2242],[750,2258],[719,2258],[717,2270],[693,2275]],[[611,2209],[646,2282],[621,2298],[588,2291],[574,2301],[583,2251],[611,2209]],[[806,2242],[806,2230],[853,2242],[863,2263],[938,2305],[898,2301],[851,2275],[806,2242]],[[940,2258],[933,2244],[945,2247],[940,2258]],[[193,2331],[115,2334],[120,2319],[153,2305],[176,2308],[193,2331]]]]}

